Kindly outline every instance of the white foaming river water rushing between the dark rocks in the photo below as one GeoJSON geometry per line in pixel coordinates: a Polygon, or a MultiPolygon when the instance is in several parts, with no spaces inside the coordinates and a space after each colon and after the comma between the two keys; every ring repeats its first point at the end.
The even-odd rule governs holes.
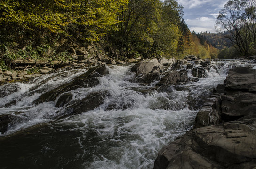
{"type": "MultiPolygon", "coordinates": [[[[249,61],[215,61],[207,78],[159,90],[157,82],[135,83],[131,66],[110,66],[109,74],[99,78],[99,85],[73,90],[73,102],[101,90],[110,95],[92,111],[61,119],[57,117],[65,110],[56,108],[56,101],[33,102],[86,69],[0,86],[0,115],[17,117],[7,132],[0,133],[0,168],[153,168],[158,151],[192,128],[203,101],[223,83],[228,69],[256,69],[249,61]],[[113,104],[117,108],[108,110],[113,104]]],[[[192,77],[191,70],[188,76],[192,77]]]]}

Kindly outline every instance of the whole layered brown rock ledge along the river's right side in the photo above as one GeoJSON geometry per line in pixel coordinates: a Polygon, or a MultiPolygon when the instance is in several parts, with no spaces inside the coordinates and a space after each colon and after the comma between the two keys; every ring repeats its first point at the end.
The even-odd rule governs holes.
{"type": "Polygon", "coordinates": [[[256,169],[256,70],[230,69],[194,128],[160,150],[154,169],[256,169]]]}

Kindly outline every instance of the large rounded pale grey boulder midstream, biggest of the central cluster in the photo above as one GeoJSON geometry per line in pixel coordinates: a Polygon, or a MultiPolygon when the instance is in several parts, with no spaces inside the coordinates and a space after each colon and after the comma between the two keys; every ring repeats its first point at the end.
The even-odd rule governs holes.
{"type": "Polygon", "coordinates": [[[162,69],[162,65],[158,62],[157,59],[147,59],[135,64],[131,68],[131,71],[136,72],[137,75],[142,73],[149,73],[155,66],[159,67],[159,69],[162,69]]]}

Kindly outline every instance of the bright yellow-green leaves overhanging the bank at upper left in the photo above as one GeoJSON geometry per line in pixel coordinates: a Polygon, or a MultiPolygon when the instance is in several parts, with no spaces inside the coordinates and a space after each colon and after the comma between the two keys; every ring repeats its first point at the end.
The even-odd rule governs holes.
{"type": "Polygon", "coordinates": [[[25,29],[46,29],[67,33],[68,26],[78,25],[88,36],[98,39],[119,23],[117,15],[128,0],[37,0],[21,3],[0,2],[0,25],[19,24],[25,29]]]}

